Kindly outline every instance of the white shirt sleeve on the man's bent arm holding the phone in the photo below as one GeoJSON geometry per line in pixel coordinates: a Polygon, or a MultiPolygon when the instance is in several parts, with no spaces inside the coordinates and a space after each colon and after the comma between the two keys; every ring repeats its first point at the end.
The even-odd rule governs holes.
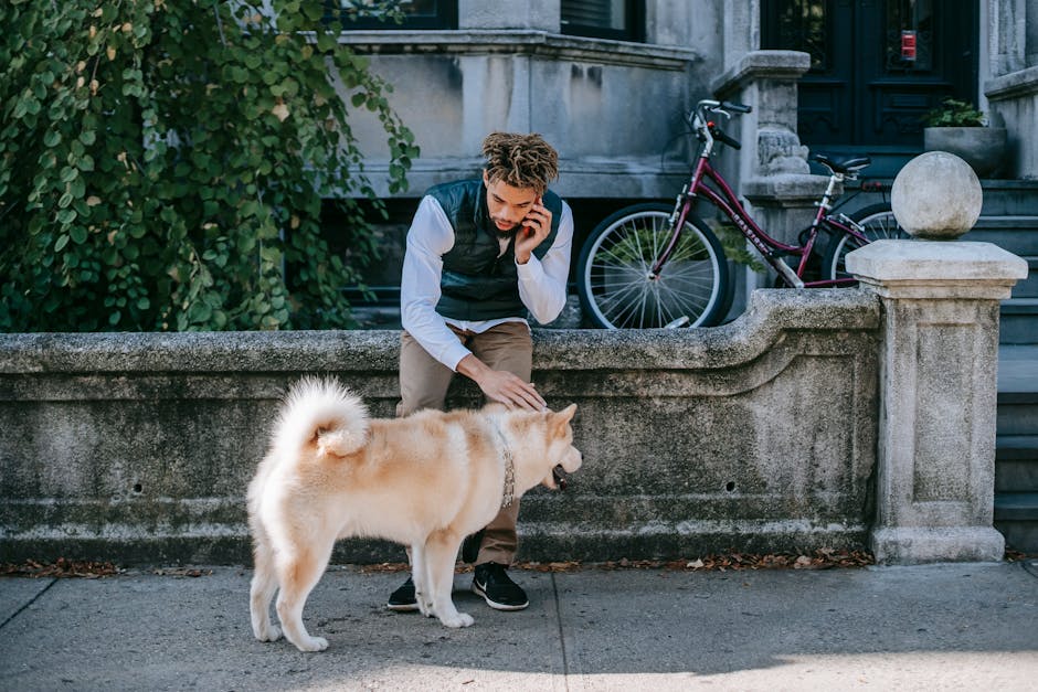
{"type": "Polygon", "coordinates": [[[541,259],[530,256],[525,265],[517,264],[519,298],[541,324],[554,320],[565,307],[565,285],[570,277],[570,255],[573,251],[573,212],[562,203],[559,231],[551,247],[541,259]]]}

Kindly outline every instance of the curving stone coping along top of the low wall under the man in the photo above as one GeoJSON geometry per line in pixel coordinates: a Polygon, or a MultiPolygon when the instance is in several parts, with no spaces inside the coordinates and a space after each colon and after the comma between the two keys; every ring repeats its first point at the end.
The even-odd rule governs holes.
{"type": "MultiPolygon", "coordinates": [[[[749,363],[787,330],[876,329],[879,302],[854,289],[759,290],[713,329],[534,329],[537,370],[710,370],[749,363]],[[817,298],[823,298],[818,300],[817,298]]],[[[395,372],[400,332],[0,334],[0,374],[395,372]]]]}

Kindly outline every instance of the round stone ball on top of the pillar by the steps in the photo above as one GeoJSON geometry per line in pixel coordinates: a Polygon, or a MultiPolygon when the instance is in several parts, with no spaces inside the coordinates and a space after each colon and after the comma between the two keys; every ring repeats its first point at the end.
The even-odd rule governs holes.
{"type": "Polygon", "coordinates": [[[901,227],[929,241],[954,241],[970,231],[983,202],[976,173],[947,151],[928,151],[905,163],[890,190],[890,206],[901,227]]]}

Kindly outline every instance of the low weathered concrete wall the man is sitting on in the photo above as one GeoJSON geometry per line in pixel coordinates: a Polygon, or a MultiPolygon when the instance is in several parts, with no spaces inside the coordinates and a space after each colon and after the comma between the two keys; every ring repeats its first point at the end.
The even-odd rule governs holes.
{"type": "MultiPolygon", "coordinates": [[[[584,468],[523,501],[522,558],[859,545],[872,517],[878,299],[767,290],[709,330],[537,330],[584,468]]],[[[284,388],[338,375],[390,416],[396,332],[0,336],[0,560],[244,562],[245,486],[284,388]]],[[[481,403],[460,379],[455,406],[481,403]]],[[[345,542],[337,560],[400,560],[345,542]]]]}

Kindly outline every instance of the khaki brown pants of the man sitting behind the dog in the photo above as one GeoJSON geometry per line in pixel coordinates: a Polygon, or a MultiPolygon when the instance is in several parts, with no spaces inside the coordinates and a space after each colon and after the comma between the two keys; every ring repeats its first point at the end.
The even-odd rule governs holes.
{"type": "MultiPolygon", "coordinates": [[[[523,322],[505,322],[483,333],[473,333],[451,327],[473,355],[492,370],[505,370],[523,381],[530,381],[533,342],[530,328],[523,322]]],[[[447,387],[454,371],[430,355],[406,331],[400,341],[400,404],[398,416],[406,416],[422,408],[444,409],[447,387]]],[[[519,500],[502,509],[484,529],[483,542],[476,564],[496,562],[511,565],[519,547],[516,519],[519,500]]]]}

